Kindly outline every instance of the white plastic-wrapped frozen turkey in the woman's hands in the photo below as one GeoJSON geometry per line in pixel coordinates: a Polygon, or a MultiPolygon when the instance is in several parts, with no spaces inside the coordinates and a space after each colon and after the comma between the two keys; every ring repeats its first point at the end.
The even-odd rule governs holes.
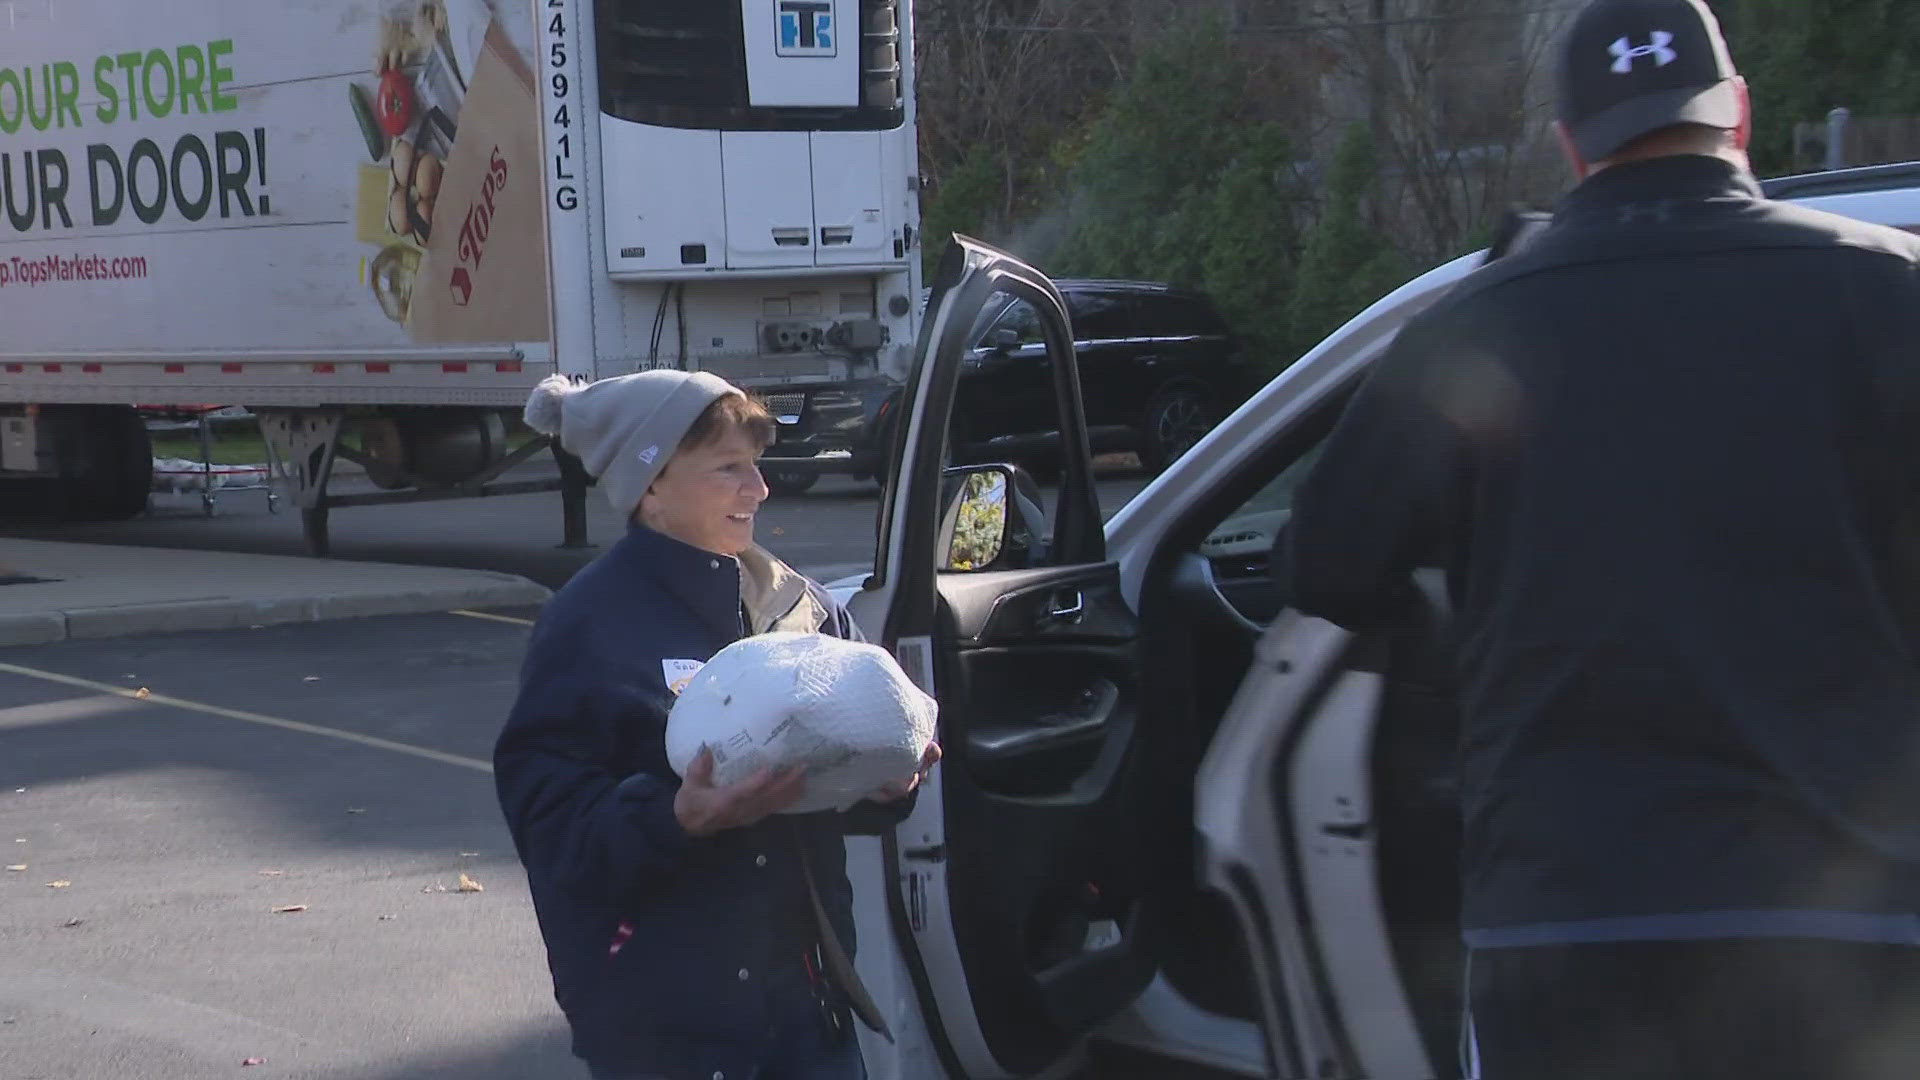
{"type": "Polygon", "coordinates": [[[666,761],[685,776],[712,748],[714,784],[806,769],[785,813],[847,809],[912,776],[937,703],[887,650],[828,634],[758,634],[714,653],[666,717],[666,761]]]}

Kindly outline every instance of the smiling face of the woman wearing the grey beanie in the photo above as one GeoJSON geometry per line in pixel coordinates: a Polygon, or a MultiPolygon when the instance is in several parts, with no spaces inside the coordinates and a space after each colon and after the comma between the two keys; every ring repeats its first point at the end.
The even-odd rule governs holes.
{"type": "Polygon", "coordinates": [[[737,427],[680,450],[639,500],[641,525],[716,555],[753,548],[753,515],[766,502],[758,457],[760,444],[737,427]]]}

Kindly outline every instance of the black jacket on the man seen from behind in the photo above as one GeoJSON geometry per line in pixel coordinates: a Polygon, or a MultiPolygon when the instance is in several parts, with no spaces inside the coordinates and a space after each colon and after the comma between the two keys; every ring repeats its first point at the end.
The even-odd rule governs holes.
{"type": "Polygon", "coordinates": [[[1596,173],[1413,319],[1298,492],[1298,605],[1442,565],[1476,945],[1920,942],[1920,238],[1596,173]]]}

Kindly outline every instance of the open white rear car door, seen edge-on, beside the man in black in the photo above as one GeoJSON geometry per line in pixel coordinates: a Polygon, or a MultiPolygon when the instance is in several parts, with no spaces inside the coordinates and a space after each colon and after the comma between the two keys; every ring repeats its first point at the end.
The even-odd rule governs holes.
{"type": "Polygon", "coordinates": [[[1246,930],[1260,1022],[1329,1080],[1461,1076],[1452,698],[1411,655],[1284,611],[1196,782],[1202,874],[1246,930]]]}

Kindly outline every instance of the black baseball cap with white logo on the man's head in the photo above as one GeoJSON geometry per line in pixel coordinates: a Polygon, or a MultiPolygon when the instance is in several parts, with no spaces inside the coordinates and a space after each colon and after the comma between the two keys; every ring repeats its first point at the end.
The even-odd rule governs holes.
{"type": "Polygon", "coordinates": [[[1676,123],[1740,127],[1734,58],[1701,0],[1594,0],[1559,54],[1559,119],[1588,161],[1676,123]]]}

